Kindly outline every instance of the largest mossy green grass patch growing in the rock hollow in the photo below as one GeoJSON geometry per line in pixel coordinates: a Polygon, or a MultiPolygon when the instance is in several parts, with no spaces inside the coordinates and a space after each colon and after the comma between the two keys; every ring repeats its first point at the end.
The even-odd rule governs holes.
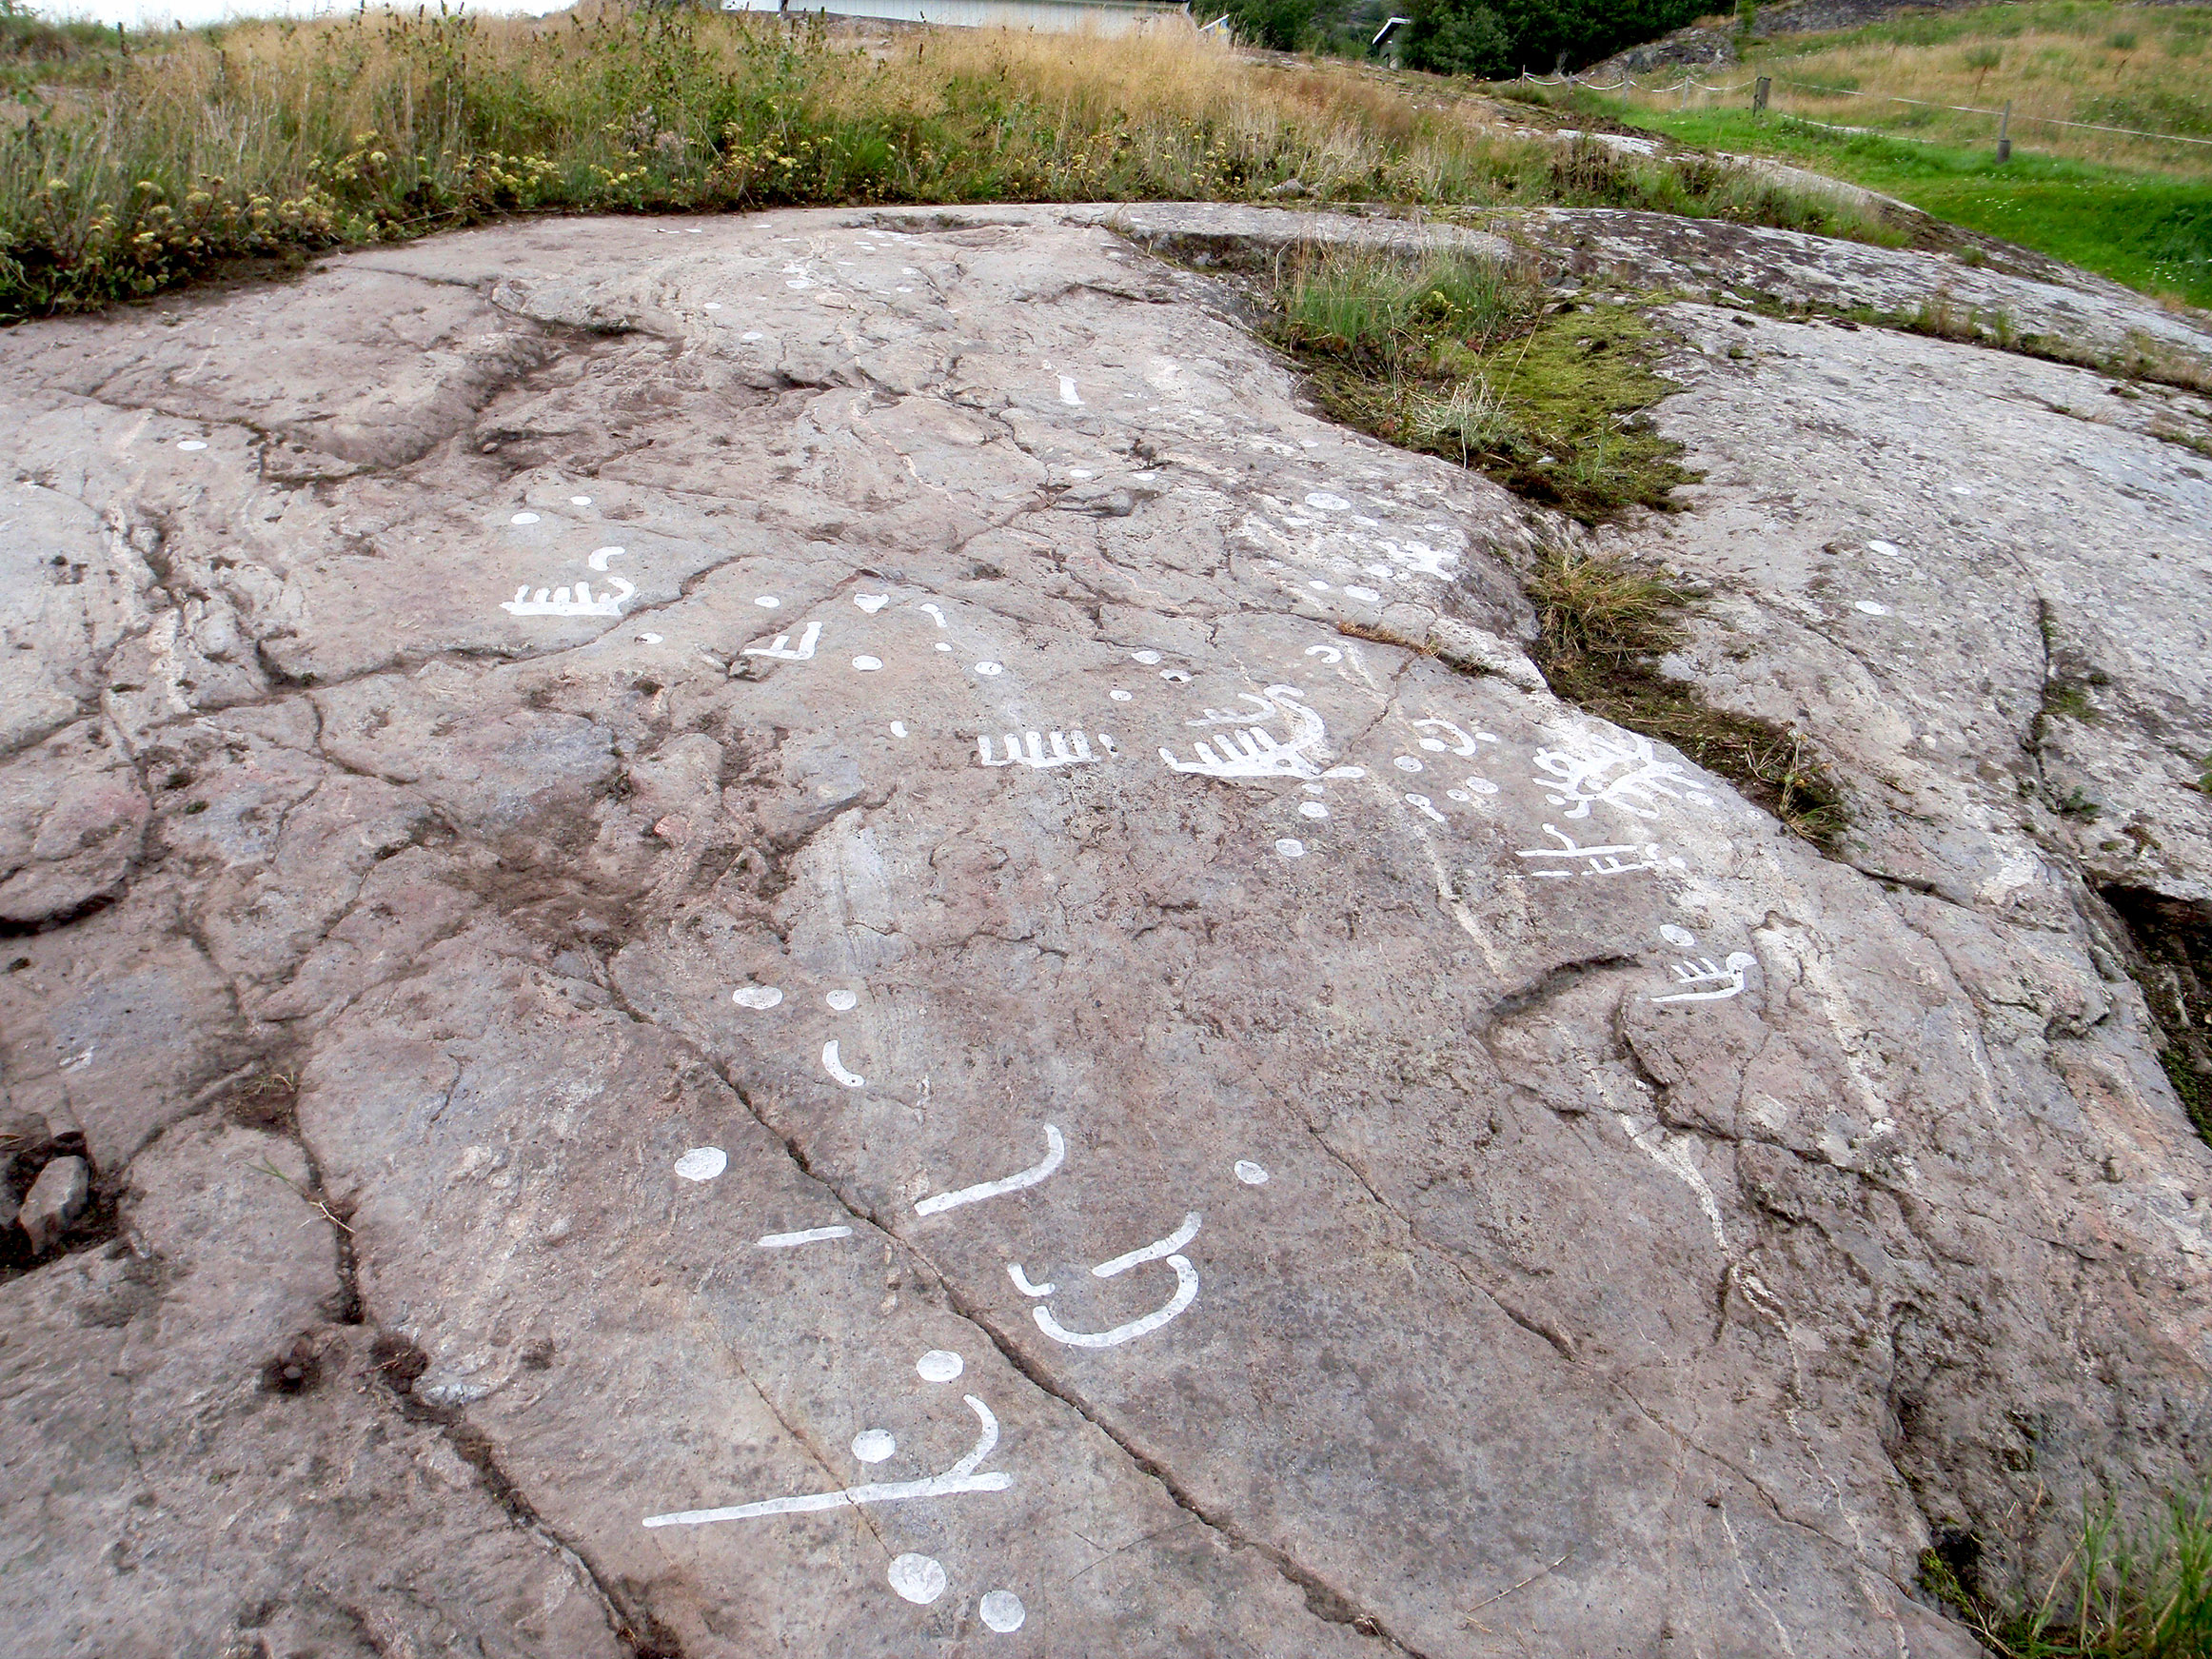
{"type": "Polygon", "coordinates": [[[1584,522],[1668,509],[1690,473],[1646,414],[1663,336],[1632,305],[1546,301],[1464,252],[1323,248],[1276,279],[1279,345],[1338,420],[1489,473],[1584,522]]]}

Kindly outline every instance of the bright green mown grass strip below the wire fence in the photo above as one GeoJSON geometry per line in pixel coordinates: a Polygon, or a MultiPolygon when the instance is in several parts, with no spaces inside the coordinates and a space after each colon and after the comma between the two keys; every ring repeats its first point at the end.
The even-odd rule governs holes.
{"type": "Polygon", "coordinates": [[[1787,115],[1666,111],[1584,93],[1621,122],[1714,150],[1772,155],[1911,201],[1938,219],[2212,307],[2212,184],[2013,150],[1834,133],[1787,115]]]}

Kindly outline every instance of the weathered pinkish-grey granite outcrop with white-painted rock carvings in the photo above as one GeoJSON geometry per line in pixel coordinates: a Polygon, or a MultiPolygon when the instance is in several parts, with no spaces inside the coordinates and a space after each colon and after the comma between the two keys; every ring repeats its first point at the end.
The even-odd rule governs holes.
{"type": "Polygon", "coordinates": [[[1931,1542],[2192,1478],[2212,1152],[2099,894],[2212,898],[2201,400],[1663,314],[1703,482],[1597,544],[1823,856],[1544,690],[1579,531],[1141,234],[0,341],[0,1106],[93,1172],[0,1648],[1966,1659],[1931,1542]]]}

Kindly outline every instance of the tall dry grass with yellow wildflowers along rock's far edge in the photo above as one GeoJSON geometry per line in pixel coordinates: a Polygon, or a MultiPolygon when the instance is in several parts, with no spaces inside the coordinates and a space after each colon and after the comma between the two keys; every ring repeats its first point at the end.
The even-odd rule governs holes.
{"type": "MultiPolygon", "coordinates": [[[[0,126],[0,319],[507,210],[845,201],[1579,201],[1551,146],[1327,66],[1197,38],[832,33],[708,9],[418,9],[155,33],[0,126]]],[[[1885,237],[1747,177],[1619,170],[1610,206],[1885,237]]],[[[1586,192],[1584,192],[1586,195],[1586,192]]]]}

